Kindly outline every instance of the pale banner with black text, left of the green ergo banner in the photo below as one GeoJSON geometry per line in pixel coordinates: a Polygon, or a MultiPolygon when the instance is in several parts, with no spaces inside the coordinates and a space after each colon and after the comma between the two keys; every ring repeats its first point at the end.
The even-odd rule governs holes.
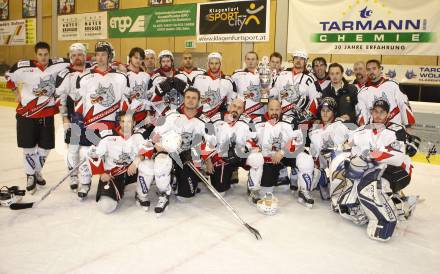
{"type": "Polygon", "coordinates": [[[107,39],[107,12],[58,16],[58,40],[107,39]]]}

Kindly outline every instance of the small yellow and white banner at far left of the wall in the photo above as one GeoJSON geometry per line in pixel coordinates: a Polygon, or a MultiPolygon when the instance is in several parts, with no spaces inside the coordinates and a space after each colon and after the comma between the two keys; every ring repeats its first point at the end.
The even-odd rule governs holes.
{"type": "Polygon", "coordinates": [[[0,46],[33,45],[36,19],[0,21],[0,46]]]}

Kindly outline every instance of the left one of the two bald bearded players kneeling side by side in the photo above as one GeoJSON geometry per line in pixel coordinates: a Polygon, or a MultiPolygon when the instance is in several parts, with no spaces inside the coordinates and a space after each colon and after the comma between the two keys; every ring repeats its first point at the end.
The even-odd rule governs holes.
{"type": "MultiPolygon", "coordinates": [[[[211,183],[224,194],[231,188],[232,173],[238,167],[249,170],[248,189],[251,193],[259,191],[263,173],[264,159],[251,131],[251,119],[243,113],[244,101],[234,99],[225,113],[218,112],[211,120],[217,140],[216,154],[207,160],[207,173],[211,183]]],[[[251,195],[253,202],[258,195],[251,195]]]]}

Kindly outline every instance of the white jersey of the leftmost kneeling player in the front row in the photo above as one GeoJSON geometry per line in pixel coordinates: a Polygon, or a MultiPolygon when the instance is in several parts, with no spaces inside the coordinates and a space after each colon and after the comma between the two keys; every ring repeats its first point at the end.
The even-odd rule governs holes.
{"type": "Polygon", "coordinates": [[[128,166],[139,155],[139,148],[145,142],[141,133],[124,138],[119,130],[101,131],[98,145],[89,149],[89,164],[92,174],[108,173],[113,176],[127,171],[128,166]],[[98,159],[96,159],[98,158],[98,159]]]}

